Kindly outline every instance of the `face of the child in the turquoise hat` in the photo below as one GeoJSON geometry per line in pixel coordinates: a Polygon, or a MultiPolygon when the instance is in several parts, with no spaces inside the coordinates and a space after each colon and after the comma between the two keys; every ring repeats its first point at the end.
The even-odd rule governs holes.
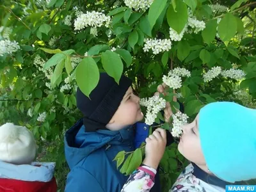
{"type": "Polygon", "coordinates": [[[199,115],[191,124],[182,126],[183,134],[178,149],[189,161],[204,166],[206,163],[200,144],[198,121],[199,115]]]}

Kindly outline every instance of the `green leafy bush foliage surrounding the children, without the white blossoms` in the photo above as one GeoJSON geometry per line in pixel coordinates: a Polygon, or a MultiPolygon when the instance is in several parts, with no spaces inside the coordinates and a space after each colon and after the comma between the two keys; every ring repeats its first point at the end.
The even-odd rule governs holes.
{"type": "MultiPolygon", "coordinates": [[[[1,26],[12,28],[10,40],[16,40],[21,48],[13,54],[0,56],[0,124],[13,122],[33,131],[40,160],[57,162],[60,190],[64,188],[68,172],[63,134],[81,116],[76,109],[76,86],[90,95],[99,81],[100,71],[108,72],[116,82],[122,73],[126,74],[134,81],[134,92],[142,98],[156,92],[163,74],[172,68],[188,69],[191,77],[184,79],[182,88],[176,92],[182,93],[180,101],[191,118],[202,106],[216,100],[234,100],[255,108],[256,11],[253,1],[155,0],[145,12],[135,12],[125,7],[123,1],[0,2],[1,26]],[[227,6],[228,12],[212,12],[209,4],[216,3],[227,6]],[[205,21],[204,31],[185,34],[181,41],[172,42],[168,52],[156,55],[144,52],[145,38],[169,38],[170,26],[182,31],[188,20],[188,7],[198,20],[205,21]],[[74,31],[76,10],[84,13],[104,10],[111,15],[110,28],[98,28],[98,36],[90,34],[90,27],[74,31]],[[67,15],[72,17],[72,26],[63,22],[67,15]],[[220,24],[216,22],[218,18],[222,19],[220,24]],[[49,45],[54,36],[56,41],[49,45]],[[118,46],[116,51],[110,51],[111,47],[118,46]],[[86,52],[88,56],[84,56],[86,52]],[[45,61],[44,68],[54,71],[51,82],[36,67],[36,56],[45,61]],[[83,59],[76,68],[72,67],[74,58],[83,59]],[[202,76],[211,67],[229,69],[232,63],[246,73],[243,81],[218,77],[204,83],[202,76]],[[72,88],[60,92],[61,86],[66,84],[64,79],[70,74],[76,76],[76,81],[72,81],[72,88]],[[52,89],[45,83],[51,83],[52,89]],[[53,106],[55,112],[51,110],[53,106]],[[32,116],[27,115],[29,109],[32,116]],[[38,115],[44,112],[46,119],[39,122],[38,115]]],[[[167,100],[177,106],[171,93],[172,90],[167,100]]],[[[161,162],[164,191],[170,189],[187,164],[175,145],[166,149],[161,162]]]]}

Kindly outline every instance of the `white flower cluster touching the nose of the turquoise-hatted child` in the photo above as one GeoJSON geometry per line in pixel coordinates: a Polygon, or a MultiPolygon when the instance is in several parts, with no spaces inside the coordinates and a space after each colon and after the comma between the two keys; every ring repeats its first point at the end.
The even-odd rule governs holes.
{"type": "Polygon", "coordinates": [[[182,134],[182,125],[188,123],[188,115],[178,111],[175,115],[172,115],[172,118],[172,136],[175,138],[179,138],[179,136],[182,134]]]}

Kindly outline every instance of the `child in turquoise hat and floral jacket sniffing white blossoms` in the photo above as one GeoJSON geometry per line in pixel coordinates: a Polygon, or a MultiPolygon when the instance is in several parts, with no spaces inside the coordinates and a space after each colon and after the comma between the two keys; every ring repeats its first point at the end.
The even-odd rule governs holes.
{"type": "MultiPolygon", "coordinates": [[[[178,149],[191,164],[170,191],[225,191],[227,185],[256,179],[256,109],[234,102],[207,104],[182,131],[178,149]]],[[[161,134],[147,140],[155,145],[146,145],[147,159],[165,147],[159,142],[164,138],[161,134]]],[[[122,191],[149,191],[155,173],[138,168],[122,191]]]]}

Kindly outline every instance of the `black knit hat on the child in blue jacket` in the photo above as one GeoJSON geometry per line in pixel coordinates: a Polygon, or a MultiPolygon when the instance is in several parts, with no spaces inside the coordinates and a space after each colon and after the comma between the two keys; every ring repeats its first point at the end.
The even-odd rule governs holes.
{"type": "Polygon", "coordinates": [[[90,99],[77,88],[77,108],[84,115],[86,131],[102,129],[109,123],[131,84],[128,77],[122,76],[117,84],[113,77],[100,73],[99,83],[90,93],[90,99]]]}

